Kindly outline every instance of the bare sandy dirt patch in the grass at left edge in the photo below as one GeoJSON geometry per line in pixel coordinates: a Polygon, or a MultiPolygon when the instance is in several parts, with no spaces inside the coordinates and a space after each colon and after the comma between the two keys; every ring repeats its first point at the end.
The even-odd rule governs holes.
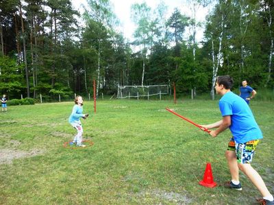
{"type": "Polygon", "coordinates": [[[41,150],[31,150],[29,152],[25,152],[22,150],[14,150],[10,149],[0,149],[0,164],[6,163],[11,164],[13,159],[19,159],[23,157],[31,157],[36,156],[38,154],[42,154],[41,150]]]}

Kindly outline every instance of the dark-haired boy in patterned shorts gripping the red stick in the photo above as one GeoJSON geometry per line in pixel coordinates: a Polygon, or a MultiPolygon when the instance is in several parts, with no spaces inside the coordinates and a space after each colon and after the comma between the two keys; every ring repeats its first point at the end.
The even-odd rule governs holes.
{"type": "Polygon", "coordinates": [[[262,139],[262,131],[245,100],[231,92],[232,85],[233,79],[228,75],[217,78],[215,90],[222,96],[219,108],[223,119],[213,124],[203,125],[203,127],[217,128],[210,132],[212,137],[216,137],[227,128],[232,132],[233,137],[225,152],[232,180],[226,182],[225,187],[242,190],[239,180],[240,169],[262,194],[263,198],[259,201],[262,204],[274,204],[273,195],[267,189],[260,174],[251,167],[256,146],[262,139]]]}

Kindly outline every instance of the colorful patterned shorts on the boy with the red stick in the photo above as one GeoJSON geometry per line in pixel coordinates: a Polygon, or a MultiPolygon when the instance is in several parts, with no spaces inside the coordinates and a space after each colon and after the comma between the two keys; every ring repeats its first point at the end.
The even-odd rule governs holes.
{"type": "Polygon", "coordinates": [[[236,141],[234,141],[234,137],[232,137],[228,143],[227,150],[236,152],[238,163],[251,163],[259,141],[259,139],[255,139],[245,143],[236,143],[236,141]]]}

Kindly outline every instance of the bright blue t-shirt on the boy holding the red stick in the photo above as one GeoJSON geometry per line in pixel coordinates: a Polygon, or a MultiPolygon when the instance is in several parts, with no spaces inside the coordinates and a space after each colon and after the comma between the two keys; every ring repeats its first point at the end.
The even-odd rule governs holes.
{"type": "Polygon", "coordinates": [[[253,113],[245,100],[233,92],[227,92],[219,101],[222,116],[230,115],[229,126],[237,143],[245,143],[254,139],[262,139],[260,130],[253,113]]]}

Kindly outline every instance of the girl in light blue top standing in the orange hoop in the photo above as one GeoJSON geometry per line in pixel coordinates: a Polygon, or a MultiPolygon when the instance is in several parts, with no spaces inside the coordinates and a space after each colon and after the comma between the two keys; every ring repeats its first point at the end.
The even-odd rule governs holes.
{"type": "Polygon", "coordinates": [[[69,123],[71,124],[71,126],[73,126],[73,128],[76,129],[77,135],[75,135],[71,144],[76,143],[76,145],[79,147],[85,147],[85,145],[82,144],[83,127],[82,127],[80,118],[86,119],[88,117],[88,114],[83,114],[82,96],[77,96],[74,102],[75,102],[75,105],[73,106],[73,111],[71,115],[69,116],[69,123]]]}

